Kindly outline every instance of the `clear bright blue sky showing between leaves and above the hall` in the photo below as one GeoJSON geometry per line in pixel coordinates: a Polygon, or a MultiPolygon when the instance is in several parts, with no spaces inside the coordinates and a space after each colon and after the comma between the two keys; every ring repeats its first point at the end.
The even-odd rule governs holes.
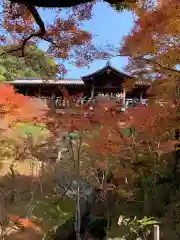
{"type": "MultiPolygon", "coordinates": [[[[45,20],[51,19],[52,13],[44,14],[45,20]]],[[[86,21],[82,24],[82,28],[91,32],[93,35],[93,43],[95,45],[107,45],[112,44],[115,47],[120,46],[120,41],[123,36],[130,33],[133,27],[133,15],[131,12],[124,11],[119,13],[111,8],[105,2],[98,2],[93,8],[93,17],[92,19],[86,21]]],[[[47,50],[47,44],[45,42],[40,43],[40,48],[47,50]]],[[[123,71],[123,68],[128,63],[126,57],[116,57],[111,59],[111,65],[115,68],[123,71]]],[[[106,61],[96,60],[92,62],[86,68],[77,68],[68,62],[65,63],[65,67],[68,70],[68,74],[65,78],[78,79],[81,76],[93,73],[98,69],[104,67],[106,61]]]]}

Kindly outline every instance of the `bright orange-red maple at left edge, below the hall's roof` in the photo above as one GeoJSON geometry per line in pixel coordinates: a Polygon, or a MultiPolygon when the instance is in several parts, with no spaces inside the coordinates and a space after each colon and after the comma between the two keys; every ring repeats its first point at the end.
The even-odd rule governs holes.
{"type": "MultiPolygon", "coordinates": [[[[9,161],[10,159],[20,161],[20,155],[27,154],[25,141],[28,141],[28,136],[32,135],[33,127],[43,123],[48,108],[40,101],[37,102],[16,93],[11,85],[1,84],[0,91],[0,151],[2,162],[8,156],[9,161]]],[[[30,156],[30,152],[28,154],[30,156]]]]}

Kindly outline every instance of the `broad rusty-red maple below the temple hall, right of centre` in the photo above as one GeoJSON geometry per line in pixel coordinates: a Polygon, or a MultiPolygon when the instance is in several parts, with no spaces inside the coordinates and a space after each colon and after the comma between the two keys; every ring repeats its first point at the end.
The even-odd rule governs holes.
{"type": "Polygon", "coordinates": [[[172,140],[176,128],[173,105],[139,106],[122,113],[116,103],[104,101],[90,108],[88,104],[76,107],[74,113],[64,114],[58,122],[61,124],[57,124],[57,131],[58,125],[63,126],[70,133],[79,133],[77,139],[83,138],[81,177],[103,192],[116,191],[126,184],[132,187],[137,181],[144,191],[145,214],[150,211],[147,201],[154,184],[172,186],[176,181],[175,162],[176,170],[169,169],[174,178],[162,173],[169,164],[166,156],[171,155],[176,144],[172,140]],[[111,173],[108,184],[103,181],[102,185],[103,171],[111,173]]]}

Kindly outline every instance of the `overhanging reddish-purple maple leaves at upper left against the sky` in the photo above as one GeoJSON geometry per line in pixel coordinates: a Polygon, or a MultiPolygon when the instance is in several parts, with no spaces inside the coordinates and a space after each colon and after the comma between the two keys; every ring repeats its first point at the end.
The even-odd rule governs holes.
{"type": "MultiPolygon", "coordinates": [[[[137,0],[106,2],[117,10],[134,9],[138,3],[137,0]]],[[[92,43],[91,34],[80,28],[82,21],[91,18],[95,3],[96,1],[89,0],[3,2],[0,41],[3,44],[9,43],[11,38],[16,46],[4,49],[1,55],[16,52],[18,56],[24,57],[26,45],[46,41],[49,44],[49,54],[58,59],[73,60],[77,66],[87,65],[96,58],[104,58],[107,53],[97,49],[92,43]],[[52,24],[42,19],[39,7],[53,13],[52,24]],[[60,16],[62,8],[68,12],[65,19],[60,16]]],[[[63,64],[59,64],[60,73],[65,71],[63,68],[63,64]]]]}

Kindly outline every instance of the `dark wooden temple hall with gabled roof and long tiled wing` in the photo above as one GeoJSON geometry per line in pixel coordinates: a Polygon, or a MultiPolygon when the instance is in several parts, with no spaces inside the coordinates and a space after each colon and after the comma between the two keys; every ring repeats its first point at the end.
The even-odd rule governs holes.
{"type": "Polygon", "coordinates": [[[79,80],[42,80],[35,78],[17,79],[12,82],[19,93],[32,97],[51,97],[58,103],[63,101],[62,89],[70,95],[82,95],[83,101],[98,98],[115,98],[123,104],[140,101],[146,104],[147,90],[150,85],[136,82],[131,91],[123,87],[125,79],[131,79],[111,66],[109,62],[102,69],[81,77],[79,80]]]}

